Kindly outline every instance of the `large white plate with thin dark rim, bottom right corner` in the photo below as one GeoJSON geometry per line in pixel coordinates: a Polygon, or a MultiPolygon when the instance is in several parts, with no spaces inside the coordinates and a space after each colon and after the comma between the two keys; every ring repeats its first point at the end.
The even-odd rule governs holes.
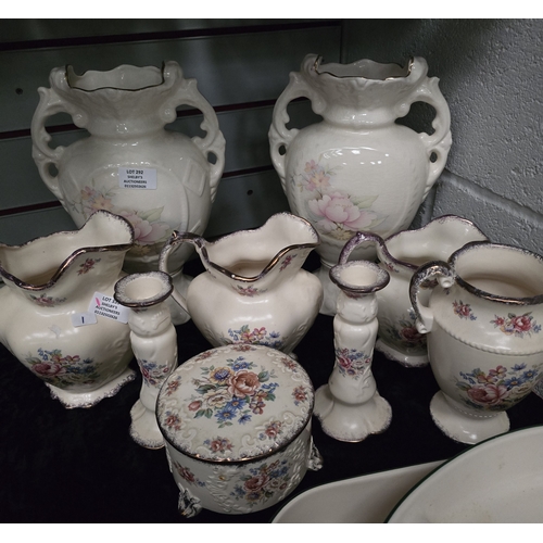
{"type": "Polygon", "coordinates": [[[543,426],[483,441],[416,485],[389,522],[543,522],[543,426]]]}

